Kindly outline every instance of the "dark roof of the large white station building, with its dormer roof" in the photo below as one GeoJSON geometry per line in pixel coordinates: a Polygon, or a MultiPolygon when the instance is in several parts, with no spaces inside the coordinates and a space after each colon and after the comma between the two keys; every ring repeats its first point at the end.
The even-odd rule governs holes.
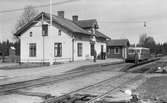
{"type": "MultiPolygon", "coordinates": [[[[16,36],[20,36],[21,34],[23,34],[32,25],[36,24],[37,22],[34,22],[34,21],[40,20],[42,18],[42,15],[44,16],[44,18],[46,18],[48,20],[50,19],[50,14],[49,13],[41,12],[39,15],[34,17],[30,22],[28,22],[23,27],[21,27],[15,33],[15,35],[16,36]]],[[[69,31],[71,31],[72,33],[80,33],[80,34],[91,35],[91,33],[89,33],[87,30],[84,30],[83,27],[90,26],[93,23],[97,23],[97,21],[95,19],[93,19],[93,20],[81,20],[79,22],[80,22],[79,24],[82,25],[82,26],[79,26],[79,24],[74,23],[72,20],[53,15],[53,24],[54,23],[55,24],[59,24],[60,26],[64,27],[65,29],[67,29],[69,31]]],[[[105,36],[104,34],[102,34],[100,32],[97,32],[97,36],[100,36],[100,37],[103,37],[103,38],[107,37],[107,36],[105,36]]]]}

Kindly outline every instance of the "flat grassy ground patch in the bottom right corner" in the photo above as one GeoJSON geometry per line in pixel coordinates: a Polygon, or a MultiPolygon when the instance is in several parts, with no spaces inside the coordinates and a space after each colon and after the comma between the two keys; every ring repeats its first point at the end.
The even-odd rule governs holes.
{"type": "Polygon", "coordinates": [[[149,78],[136,91],[143,99],[157,98],[167,101],[167,76],[149,78]]]}

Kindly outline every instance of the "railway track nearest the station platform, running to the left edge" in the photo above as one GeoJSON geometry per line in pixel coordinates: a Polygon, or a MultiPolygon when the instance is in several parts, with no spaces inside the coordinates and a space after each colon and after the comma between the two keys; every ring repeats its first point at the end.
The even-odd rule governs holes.
{"type": "MultiPolygon", "coordinates": [[[[119,67],[125,66],[121,63],[113,64],[112,66],[117,67],[117,65],[119,65],[119,67]]],[[[29,81],[21,81],[21,82],[15,82],[10,84],[4,84],[4,85],[0,85],[0,94],[1,95],[8,94],[8,93],[16,92],[19,89],[28,88],[28,87],[37,87],[37,86],[52,84],[52,83],[54,84],[59,81],[69,80],[79,76],[89,75],[91,73],[97,73],[102,71],[107,71],[107,70],[97,69],[97,70],[89,70],[89,71],[71,71],[62,75],[48,76],[48,77],[43,77],[43,78],[29,80],[29,81]]]]}

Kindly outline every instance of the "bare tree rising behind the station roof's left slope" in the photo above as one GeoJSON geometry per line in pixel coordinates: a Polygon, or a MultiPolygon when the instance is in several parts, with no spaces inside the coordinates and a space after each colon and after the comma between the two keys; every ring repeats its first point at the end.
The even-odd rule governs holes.
{"type": "Polygon", "coordinates": [[[16,25],[15,25],[15,31],[17,31],[19,28],[24,26],[26,23],[31,21],[33,17],[37,15],[38,11],[33,6],[26,6],[24,8],[23,14],[19,17],[16,25]]]}

